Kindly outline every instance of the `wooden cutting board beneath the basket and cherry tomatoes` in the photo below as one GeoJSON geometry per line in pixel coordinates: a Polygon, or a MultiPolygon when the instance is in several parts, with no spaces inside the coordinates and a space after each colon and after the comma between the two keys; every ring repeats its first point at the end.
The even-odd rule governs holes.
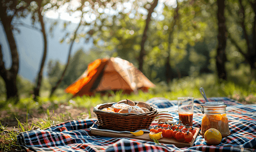
{"type": "MultiPolygon", "coordinates": [[[[195,129],[196,129],[196,132],[195,132],[191,142],[178,141],[173,137],[172,138],[161,138],[158,141],[159,141],[159,143],[174,144],[178,148],[191,147],[199,133],[199,130],[200,130],[199,128],[195,128],[195,129]]],[[[134,139],[154,142],[152,139],[149,138],[149,133],[144,133],[141,136],[134,136],[131,133],[114,133],[114,132],[102,131],[102,130],[96,129],[96,128],[91,128],[91,134],[105,136],[105,137],[113,137],[113,138],[127,137],[127,138],[134,138],[134,139]]]]}

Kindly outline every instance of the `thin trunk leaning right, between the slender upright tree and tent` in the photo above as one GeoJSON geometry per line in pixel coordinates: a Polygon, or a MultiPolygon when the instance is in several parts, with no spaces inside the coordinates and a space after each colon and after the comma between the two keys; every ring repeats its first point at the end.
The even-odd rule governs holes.
{"type": "Polygon", "coordinates": [[[83,16],[83,14],[81,15],[81,20],[80,20],[80,22],[79,22],[79,24],[78,24],[78,26],[77,26],[77,28],[76,28],[76,30],[75,30],[75,32],[74,32],[74,38],[73,38],[73,40],[72,40],[72,42],[71,42],[71,45],[70,45],[70,48],[69,48],[68,60],[67,60],[66,67],[65,67],[65,69],[63,70],[62,75],[61,75],[61,78],[59,79],[59,81],[56,83],[56,85],[55,85],[54,87],[51,88],[50,97],[52,97],[54,91],[58,88],[58,86],[61,84],[61,82],[62,82],[63,79],[64,79],[64,75],[65,75],[66,70],[67,70],[68,65],[69,65],[71,50],[72,50],[73,44],[74,44],[74,42],[75,42],[76,33],[77,33],[77,31],[78,31],[78,29],[79,29],[79,27],[80,27],[80,25],[81,25],[81,22],[82,22],[82,16],[83,16]]]}

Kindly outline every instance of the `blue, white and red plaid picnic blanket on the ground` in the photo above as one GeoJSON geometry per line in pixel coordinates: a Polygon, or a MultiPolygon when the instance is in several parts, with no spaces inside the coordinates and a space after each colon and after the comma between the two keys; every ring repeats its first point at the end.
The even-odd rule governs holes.
{"type": "MultiPolygon", "coordinates": [[[[173,144],[156,144],[132,138],[110,138],[90,134],[96,119],[68,121],[44,130],[22,132],[18,143],[26,151],[256,151],[256,104],[243,105],[230,98],[209,98],[227,104],[231,135],[218,145],[208,145],[198,135],[192,147],[178,148],[173,144]]],[[[177,100],[152,98],[147,103],[159,111],[172,113],[178,120],[177,100]]],[[[193,126],[201,128],[203,99],[194,100],[193,126]]]]}

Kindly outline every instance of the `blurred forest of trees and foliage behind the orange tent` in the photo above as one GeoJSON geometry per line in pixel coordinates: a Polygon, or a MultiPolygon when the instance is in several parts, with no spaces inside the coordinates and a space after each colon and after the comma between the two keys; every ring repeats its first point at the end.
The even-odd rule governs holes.
{"type": "Polygon", "coordinates": [[[43,50],[43,58],[38,61],[41,66],[37,78],[35,82],[24,81],[34,87],[34,91],[27,90],[35,98],[40,96],[41,83],[43,91],[51,90],[52,96],[57,88],[65,89],[78,79],[90,62],[111,56],[132,62],[156,84],[187,76],[200,77],[204,73],[215,74],[218,81],[239,85],[250,85],[255,80],[256,2],[252,0],[11,2],[3,1],[0,8],[1,26],[13,57],[12,67],[5,68],[5,56],[0,50],[1,77],[6,86],[0,91],[6,93],[7,99],[18,97],[17,83],[23,79],[17,78],[18,53],[22,52],[17,51],[15,41],[18,40],[14,39],[13,31],[18,30],[17,23],[21,23],[17,21],[27,16],[31,16],[31,23],[19,25],[39,29],[44,37],[43,48],[39,48],[43,50]],[[60,15],[63,13],[60,10],[79,19],[76,28],[69,31],[69,21],[47,19],[47,11],[60,15]],[[45,24],[49,28],[45,28],[45,24]],[[60,43],[69,44],[67,62],[49,59],[44,63],[46,53],[54,52],[47,47],[47,38],[60,28],[59,24],[66,34],[54,36],[60,43]],[[93,47],[72,53],[72,46],[81,41],[93,42],[93,47]],[[43,71],[47,71],[45,75],[43,71]]]}

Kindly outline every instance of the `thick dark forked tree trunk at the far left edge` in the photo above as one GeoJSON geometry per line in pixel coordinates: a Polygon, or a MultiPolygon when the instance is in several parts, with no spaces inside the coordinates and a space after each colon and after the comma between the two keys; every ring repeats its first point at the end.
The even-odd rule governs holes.
{"type": "Polygon", "coordinates": [[[6,84],[7,100],[14,99],[15,103],[19,101],[18,89],[16,85],[16,78],[19,70],[19,55],[17,51],[16,42],[12,32],[12,19],[13,16],[7,16],[6,9],[0,6],[1,20],[6,33],[7,41],[11,51],[12,66],[9,70],[5,68],[3,61],[2,46],[0,45],[0,75],[6,84]],[[3,22],[5,21],[5,22],[3,22]]]}

